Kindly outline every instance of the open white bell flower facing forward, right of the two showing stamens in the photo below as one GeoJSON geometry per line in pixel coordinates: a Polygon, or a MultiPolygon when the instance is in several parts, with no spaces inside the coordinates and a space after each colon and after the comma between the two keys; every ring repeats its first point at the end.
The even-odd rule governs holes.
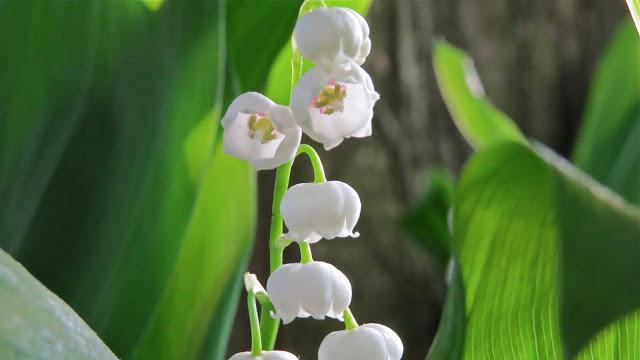
{"type": "Polygon", "coordinates": [[[360,66],[331,72],[314,67],[293,89],[291,110],[302,130],[329,150],[345,138],[371,135],[378,99],[371,77],[360,66]]]}

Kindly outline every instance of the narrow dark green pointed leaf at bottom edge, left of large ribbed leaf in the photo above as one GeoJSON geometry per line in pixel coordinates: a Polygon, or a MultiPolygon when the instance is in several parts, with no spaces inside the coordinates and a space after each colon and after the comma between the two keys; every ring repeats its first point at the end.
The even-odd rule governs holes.
{"type": "Polygon", "coordinates": [[[452,258],[448,274],[447,299],[442,309],[440,327],[433,339],[427,360],[461,359],[464,349],[465,310],[464,287],[459,265],[452,258]]]}

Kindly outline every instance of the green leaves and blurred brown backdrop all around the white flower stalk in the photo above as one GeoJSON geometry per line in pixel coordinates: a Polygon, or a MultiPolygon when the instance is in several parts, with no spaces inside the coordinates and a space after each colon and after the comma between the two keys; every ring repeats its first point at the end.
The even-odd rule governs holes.
{"type": "MultiPolygon", "coordinates": [[[[327,3],[369,14],[366,68],[382,95],[373,137],[321,154],[363,201],[361,238],[314,249],[351,279],[358,319],[388,324],[405,358],[423,359],[453,254],[430,358],[559,358],[561,343],[588,343],[594,358],[640,353],[637,312],[609,325],[639,305],[637,208],[527,140],[639,204],[640,49],[630,21],[616,32],[624,3],[327,3]],[[442,37],[469,54],[432,46],[442,37]],[[451,118],[478,151],[462,172],[472,149],[451,118]],[[585,218],[599,220],[574,226],[585,218]]],[[[226,156],[218,117],[244,91],[288,102],[299,6],[0,2],[0,247],[79,315],[0,253],[0,315],[13,319],[0,324],[0,353],[247,349],[240,275],[248,266],[266,280],[273,172],[226,156]],[[59,337],[24,341],[41,329],[59,337]]],[[[310,174],[296,165],[292,180],[310,174]]],[[[278,347],[312,359],[339,328],[296,321],[278,347]]]]}

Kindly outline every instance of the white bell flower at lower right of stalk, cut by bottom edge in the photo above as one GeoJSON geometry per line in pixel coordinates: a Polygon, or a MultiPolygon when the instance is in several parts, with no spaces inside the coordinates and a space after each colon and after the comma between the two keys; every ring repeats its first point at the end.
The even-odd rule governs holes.
{"type": "Polygon", "coordinates": [[[335,331],[320,344],[318,360],[400,360],[400,337],[380,324],[365,324],[353,330],[335,331]]]}

